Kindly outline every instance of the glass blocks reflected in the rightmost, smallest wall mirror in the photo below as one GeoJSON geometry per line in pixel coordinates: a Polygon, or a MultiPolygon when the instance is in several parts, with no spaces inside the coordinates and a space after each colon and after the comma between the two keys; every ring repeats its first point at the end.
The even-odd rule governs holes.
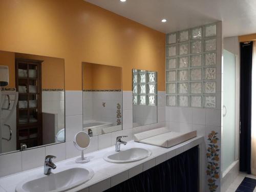
{"type": "Polygon", "coordinates": [[[157,105],[157,73],[133,69],[133,104],[157,105]]]}

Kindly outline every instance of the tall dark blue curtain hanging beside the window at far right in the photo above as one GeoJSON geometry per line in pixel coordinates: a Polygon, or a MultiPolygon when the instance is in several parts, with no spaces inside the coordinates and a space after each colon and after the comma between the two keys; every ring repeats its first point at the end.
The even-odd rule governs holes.
{"type": "Polygon", "coordinates": [[[251,85],[253,42],[240,44],[240,171],[251,174],[251,85]]]}

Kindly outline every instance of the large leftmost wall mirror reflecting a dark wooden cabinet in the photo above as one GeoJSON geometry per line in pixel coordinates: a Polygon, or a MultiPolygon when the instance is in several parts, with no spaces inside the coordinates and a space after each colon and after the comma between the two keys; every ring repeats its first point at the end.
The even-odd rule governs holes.
{"type": "Polygon", "coordinates": [[[0,73],[0,154],[65,142],[64,59],[0,51],[0,73]]]}

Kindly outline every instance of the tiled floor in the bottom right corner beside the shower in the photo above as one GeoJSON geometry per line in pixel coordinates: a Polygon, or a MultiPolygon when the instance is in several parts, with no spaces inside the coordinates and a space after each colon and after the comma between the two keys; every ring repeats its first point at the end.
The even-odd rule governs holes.
{"type": "MultiPolygon", "coordinates": [[[[238,175],[238,177],[234,180],[234,182],[226,190],[226,192],[235,192],[235,191],[247,192],[247,191],[251,191],[251,190],[246,190],[247,188],[244,188],[244,187],[241,187],[241,186],[240,186],[239,190],[237,190],[239,185],[243,182],[245,177],[256,179],[256,176],[254,176],[254,175],[247,175],[247,174],[244,174],[244,173],[240,173],[238,175]],[[242,190],[242,189],[244,189],[244,190],[242,190]]],[[[256,188],[253,190],[253,192],[256,192],[256,188]]]]}

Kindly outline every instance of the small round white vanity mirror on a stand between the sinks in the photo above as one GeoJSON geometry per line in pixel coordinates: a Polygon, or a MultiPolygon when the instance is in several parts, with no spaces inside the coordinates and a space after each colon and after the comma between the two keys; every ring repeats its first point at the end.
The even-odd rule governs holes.
{"type": "Polygon", "coordinates": [[[81,151],[81,157],[76,159],[76,163],[87,163],[90,161],[88,157],[84,157],[83,151],[90,145],[90,137],[86,132],[78,132],[74,138],[75,147],[81,151]]]}

